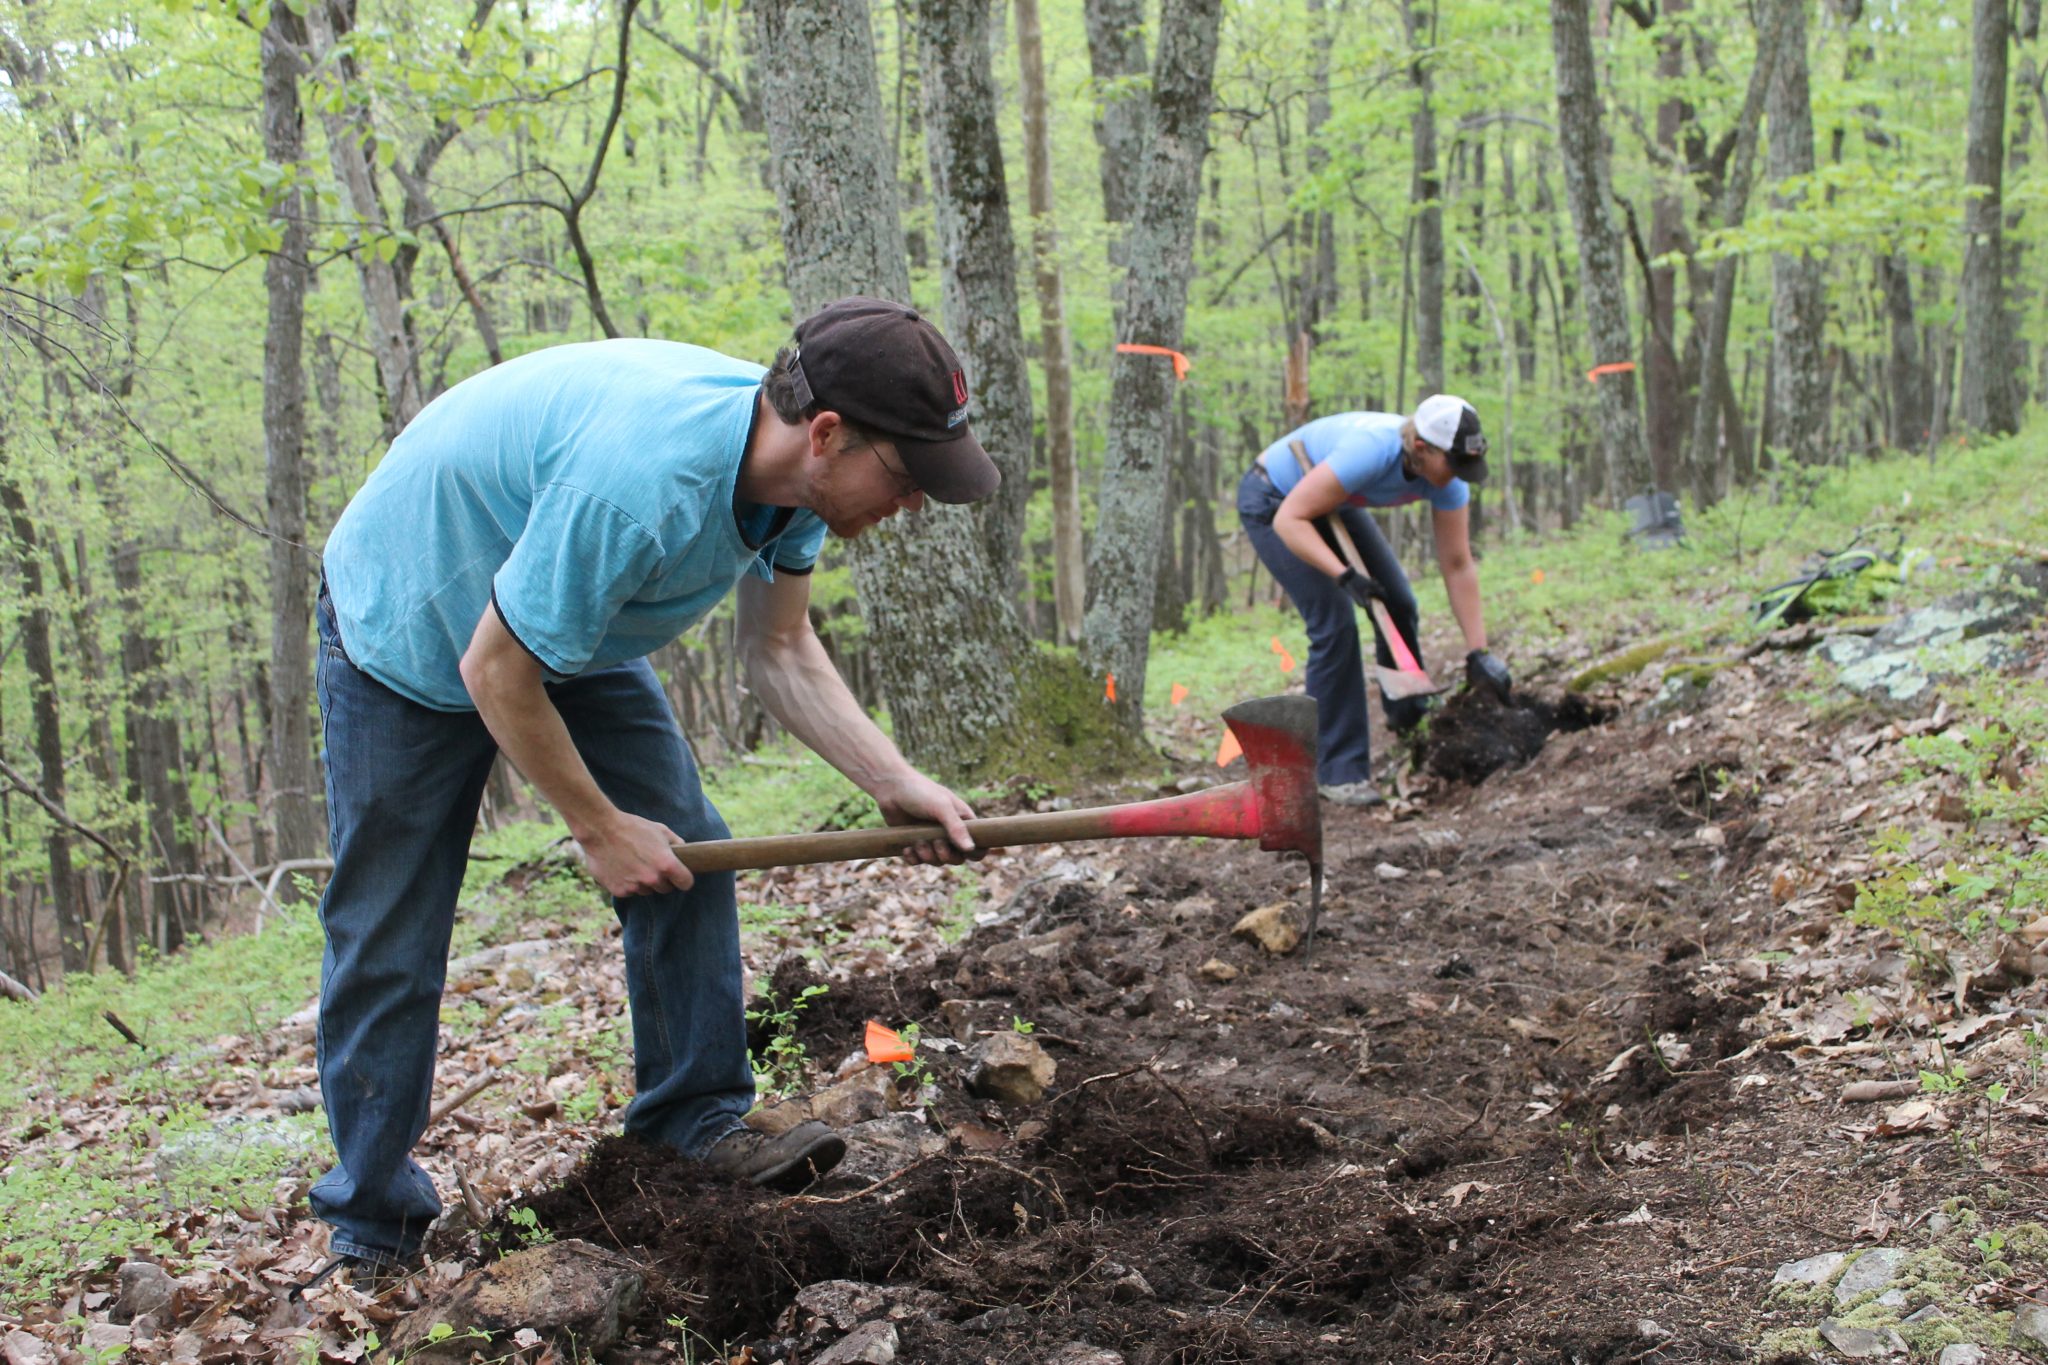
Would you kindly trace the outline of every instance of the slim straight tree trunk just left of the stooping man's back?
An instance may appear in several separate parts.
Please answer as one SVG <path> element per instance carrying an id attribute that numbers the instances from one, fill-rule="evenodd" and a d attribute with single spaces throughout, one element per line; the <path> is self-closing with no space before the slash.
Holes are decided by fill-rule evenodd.
<path id="1" fill-rule="evenodd" d="M 262 31 L 262 145 L 264 158 L 283 168 L 295 168 L 305 156 L 299 125 L 303 37 L 297 14 L 283 4 L 270 8 L 270 23 Z M 330 127 L 332 137 L 336 129 Z M 346 139 L 348 129 L 340 129 L 340 137 Z M 264 262 L 264 287 L 270 295 L 262 375 L 264 524 L 270 532 L 270 819 L 279 857 L 313 857 L 326 843 L 326 831 L 313 798 L 313 655 L 307 643 L 311 567 L 305 555 L 301 354 L 311 233 L 297 178 L 287 184 L 291 188 L 270 211 L 279 225 L 279 248 Z M 385 274 L 389 278 L 389 270 Z"/>

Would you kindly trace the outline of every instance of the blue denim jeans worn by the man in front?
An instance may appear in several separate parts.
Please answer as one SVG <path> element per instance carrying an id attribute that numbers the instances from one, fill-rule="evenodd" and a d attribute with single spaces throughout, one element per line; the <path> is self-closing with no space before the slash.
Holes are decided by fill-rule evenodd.
<path id="1" fill-rule="evenodd" d="M 410 1257 L 440 1197 L 412 1146 L 426 1130 L 455 900 L 498 745 L 350 663 L 319 593 L 319 714 L 334 878 L 319 902 L 319 1091 L 340 1164 L 311 1191 L 334 1254 Z M 690 747 L 645 659 L 549 696 L 604 794 L 684 839 L 723 839 Z M 633 1015 L 627 1132 L 692 1156 L 754 1105 L 733 876 L 612 900 Z"/>

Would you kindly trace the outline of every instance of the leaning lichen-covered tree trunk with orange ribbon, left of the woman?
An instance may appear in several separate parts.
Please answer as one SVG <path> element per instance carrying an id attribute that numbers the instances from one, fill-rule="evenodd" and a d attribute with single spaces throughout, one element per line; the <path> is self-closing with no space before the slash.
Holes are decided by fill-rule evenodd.
<path id="1" fill-rule="evenodd" d="M 1120 344 L 1178 350 L 1182 342 L 1221 12 L 1221 0 L 1165 0 L 1159 16 L 1151 141 L 1130 221 Z M 1143 733 L 1145 720 L 1145 653 L 1167 495 L 1174 383 L 1174 366 L 1161 356 L 1118 352 L 1110 366 L 1108 446 L 1087 561 L 1081 661 L 1096 677 L 1116 675 L 1116 720 L 1130 735 Z"/>

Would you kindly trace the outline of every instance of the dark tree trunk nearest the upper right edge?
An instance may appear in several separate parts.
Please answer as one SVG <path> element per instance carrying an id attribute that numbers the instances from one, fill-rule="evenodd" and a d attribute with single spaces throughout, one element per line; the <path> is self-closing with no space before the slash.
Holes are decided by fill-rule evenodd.
<path id="1" fill-rule="evenodd" d="M 1978 432 L 2019 430 L 2019 383 L 2005 321 L 2005 47 L 2007 0 L 1976 0 L 1970 123 L 1964 151 L 1962 379 L 1958 415 Z"/>

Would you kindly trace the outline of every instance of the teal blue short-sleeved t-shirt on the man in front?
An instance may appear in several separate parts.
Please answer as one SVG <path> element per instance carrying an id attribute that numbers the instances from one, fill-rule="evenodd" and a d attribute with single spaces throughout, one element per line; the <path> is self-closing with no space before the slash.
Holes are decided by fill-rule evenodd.
<path id="1" fill-rule="evenodd" d="M 668 645 L 748 573 L 807 571 L 815 514 L 733 501 L 760 379 L 700 346 L 614 340 L 442 393 L 328 536 L 348 657 L 414 702 L 473 710 L 459 663 L 492 600 L 559 681 Z"/>

